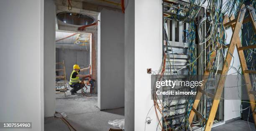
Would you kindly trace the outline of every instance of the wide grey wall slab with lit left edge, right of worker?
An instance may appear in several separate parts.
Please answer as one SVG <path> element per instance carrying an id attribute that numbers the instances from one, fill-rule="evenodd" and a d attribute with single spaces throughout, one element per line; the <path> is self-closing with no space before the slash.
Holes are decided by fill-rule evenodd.
<path id="1" fill-rule="evenodd" d="M 124 107 L 124 14 L 102 9 L 99 17 L 98 107 Z"/>

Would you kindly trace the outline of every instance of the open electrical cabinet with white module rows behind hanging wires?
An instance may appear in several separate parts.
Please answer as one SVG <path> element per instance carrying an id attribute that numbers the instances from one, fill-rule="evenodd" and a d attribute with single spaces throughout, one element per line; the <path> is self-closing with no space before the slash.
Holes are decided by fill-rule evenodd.
<path id="1" fill-rule="evenodd" d="M 189 18 L 183 21 L 176 20 L 176 17 L 184 17 L 189 4 L 181 0 L 164 0 L 163 2 L 163 30 L 164 30 L 164 52 L 166 54 L 166 65 L 164 75 L 187 76 L 189 75 Z M 205 10 L 202 8 L 198 13 L 198 19 L 204 17 Z M 165 17 L 168 15 L 168 17 Z M 205 36 L 205 28 L 202 28 L 202 37 Z M 197 34 L 197 33 L 195 33 Z M 198 41 L 195 39 L 195 43 Z M 200 46 L 199 46 L 200 47 Z M 196 47 L 198 48 L 198 47 Z M 199 50 L 200 51 L 200 50 Z M 201 59 L 200 59 L 201 60 Z M 202 65 L 204 71 L 204 65 Z M 184 77 L 183 81 L 187 78 Z M 185 91 L 187 87 L 175 87 L 179 91 Z M 163 90 L 168 90 L 163 88 Z M 163 98 L 163 130 L 178 129 L 184 123 L 184 113 L 186 109 L 186 98 L 184 96 L 174 96 Z"/>

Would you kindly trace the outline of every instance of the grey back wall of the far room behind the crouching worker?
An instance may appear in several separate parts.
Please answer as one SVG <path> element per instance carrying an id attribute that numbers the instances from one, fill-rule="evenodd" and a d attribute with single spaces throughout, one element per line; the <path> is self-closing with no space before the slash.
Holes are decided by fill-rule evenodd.
<path id="1" fill-rule="evenodd" d="M 56 48 L 56 61 L 62 62 L 64 60 L 67 74 L 67 81 L 69 81 L 70 74 L 73 71 L 73 65 L 78 64 L 80 68 L 87 68 L 90 65 L 90 50 L 71 50 L 71 49 L 61 49 Z M 56 66 L 56 69 L 63 68 L 62 66 Z M 81 72 L 80 74 L 88 74 L 89 70 L 86 72 Z M 59 75 L 62 73 L 59 72 Z"/>

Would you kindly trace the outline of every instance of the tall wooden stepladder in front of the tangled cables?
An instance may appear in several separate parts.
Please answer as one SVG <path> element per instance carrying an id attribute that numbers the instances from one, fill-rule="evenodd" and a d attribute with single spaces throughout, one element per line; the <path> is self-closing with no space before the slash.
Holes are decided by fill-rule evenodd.
<path id="1" fill-rule="evenodd" d="M 246 10 L 248 10 L 249 12 L 249 16 L 247 18 L 244 19 Z M 239 38 L 239 32 L 241 30 L 241 26 L 243 23 L 247 23 L 251 21 L 252 25 L 253 25 L 253 29 L 256 32 L 256 15 L 255 15 L 255 10 L 253 9 L 253 7 L 250 6 L 245 6 L 244 4 L 241 6 L 241 10 L 238 14 L 238 17 L 235 19 L 234 16 L 232 15 L 230 18 L 228 18 L 228 16 L 226 15 L 224 20 L 223 20 L 223 25 L 224 27 L 229 27 L 231 26 L 232 30 L 233 30 L 233 34 L 232 34 L 232 38 L 230 40 L 230 45 L 228 47 L 228 53 L 226 55 L 225 61 L 223 63 L 223 70 L 221 71 L 217 71 L 220 74 L 220 80 L 218 81 L 218 86 L 217 86 L 217 90 L 214 94 L 211 93 L 207 93 L 206 91 L 204 91 L 205 88 L 205 84 L 207 83 L 207 75 L 209 75 L 209 69 L 212 67 L 212 63 L 215 59 L 216 56 L 216 50 L 210 55 L 210 60 L 209 63 L 207 63 L 206 65 L 206 70 L 204 72 L 204 77 L 203 77 L 203 85 L 201 87 L 198 87 L 198 91 L 197 91 L 197 95 L 192 107 L 192 110 L 189 114 L 189 123 L 191 124 L 193 121 L 193 118 L 195 116 L 195 114 L 200 117 L 202 119 L 202 121 L 205 122 L 205 131 L 210 131 L 212 128 L 212 124 L 215 118 L 215 114 L 217 112 L 218 109 L 218 105 L 220 102 L 220 97 L 221 94 L 223 92 L 223 87 L 224 87 L 224 83 L 225 83 L 225 79 L 226 79 L 226 74 L 228 73 L 228 68 L 230 67 L 230 63 L 232 60 L 232 55 L 234 53 L 235 50 L 235 46 L 238 49 L 238 55 L 239 55 L 239 59 L 240 59 L 240 63 L 241 63 L 241 68 L 243 71 L 243 75 L 244 75 L 244 79 L 246 84 L 246 89 L 247 89 L 247 93 L 248 93 L 248 97 L 250 100 L 250 104 L 251 104 L 251 111 L 253 114 L 253 120 L 254 120 L 254 124 L 256 127 L 256 114 L 254 112 L 255 109 L 255 98 L 254 96 L 256 95 L 256 93 L 254 91 L 251 91 L 252 89 L 252 85 L 251 85 L 251 80 L 249 77 L 249 73 L 256 73 L 256 71 L 251 71 L 248 70 L 247 65 L 246 65 L 246 59 L 244 57 L 244 53 L 243 50 L 247 50 L 247 49 L 253 49 L 256 48 L 256 45 L 249 45 L 246 47 L 242 47 L 241 45 L 241 40 Z M 223 34 L 222 34 L 223 35 Z M 220 44 L 219 44 L 220 45 Z M 220 45 L 222 46 L 222 45 Z M 197 111 L 197 106 L 200 102 L 200 98 L 202 96 L 202 94 L 206 95 L 207 97 L 211 97 L 213 99 L 212 102 L 212 108 L 210 109 L 210 113 L 209 116 L 207 118 L 205 118 L 202 114 L 200 114 L 199 111 Z"/>

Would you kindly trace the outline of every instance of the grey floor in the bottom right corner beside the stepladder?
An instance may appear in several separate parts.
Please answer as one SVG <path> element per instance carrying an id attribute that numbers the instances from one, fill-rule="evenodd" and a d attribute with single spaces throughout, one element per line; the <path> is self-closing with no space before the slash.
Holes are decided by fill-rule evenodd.
<path id="1" fill-rule="evenodd" d="M 254 123 L 249 122 L 251 130 L 248 126 L 248 122 L 244 120 L 235 120 L 230 123 L 225 123 L 221 126 L 212 128 L 212 131 L 256 131 Z"/>

